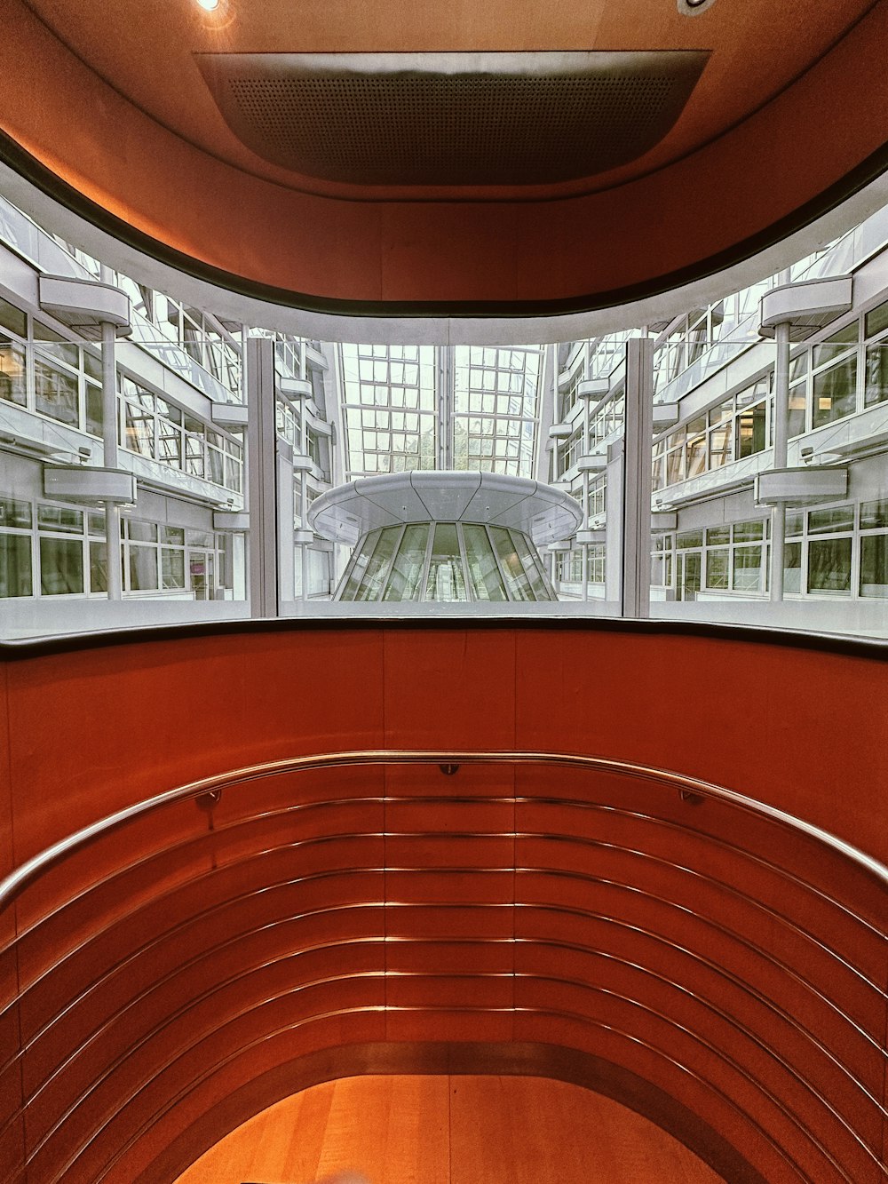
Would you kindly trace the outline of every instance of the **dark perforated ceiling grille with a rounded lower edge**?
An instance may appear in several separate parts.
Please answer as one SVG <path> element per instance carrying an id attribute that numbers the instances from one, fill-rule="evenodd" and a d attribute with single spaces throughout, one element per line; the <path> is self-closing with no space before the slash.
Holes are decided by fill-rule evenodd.
<path id="1" fill-rule="evenodd" d="M 552 69 L 559 54 L 485 56 L 497 72 L 488 62 L 463 72 L 459 54 L 408 56 L 430 58 L 422 70 L 405 70 L 403 54 L 373 56 L 361 70 L 363 57 L 330 56 L 321 69 L 311 54 L 199 60 L 232 130 L 277 165 L 363 184 L 522 185 L 587 176 L 646 152 L 675 123 L 707 54 L 566 54 L 583 59 L 570 71 Z M 516 63 L 525 69 L 502 69 Z"/>

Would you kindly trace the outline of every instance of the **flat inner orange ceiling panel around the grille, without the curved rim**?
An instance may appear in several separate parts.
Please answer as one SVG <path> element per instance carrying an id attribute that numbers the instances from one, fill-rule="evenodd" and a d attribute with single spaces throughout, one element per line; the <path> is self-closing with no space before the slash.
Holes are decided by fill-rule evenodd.
<path id="1" fill-rule="evenodd" d="M 189 143 L 289 187 L 356 195 L 362 191 L 354 186 L 294 175 L 245 148 L 219 115 L 193 54 L 710 51 L 667 139 L 591 186 L 554 187 L 571 192 L 620 184 L 721 135 L 804 73 L 873 0 L 718 0 L 693 18 L 678 12 L 676 0 L 227 0 L 227 11 L 218 15 L 194 0 L 28 0 L 27 6 L 101 78 Z"/>

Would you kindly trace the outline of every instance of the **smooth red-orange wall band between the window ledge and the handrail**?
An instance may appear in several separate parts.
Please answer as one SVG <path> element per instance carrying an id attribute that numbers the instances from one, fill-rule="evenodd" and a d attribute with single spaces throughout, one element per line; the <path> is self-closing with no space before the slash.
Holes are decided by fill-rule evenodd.
<path id="1" fill-rule="evenodd" d="M 667 630 L 380 626 L 160 639 L 5 669 L 18 862 L 199 777 L 374 747 L 635 760 L 770 802 L 888 862 L 873 826 L 882 661 Z"/>

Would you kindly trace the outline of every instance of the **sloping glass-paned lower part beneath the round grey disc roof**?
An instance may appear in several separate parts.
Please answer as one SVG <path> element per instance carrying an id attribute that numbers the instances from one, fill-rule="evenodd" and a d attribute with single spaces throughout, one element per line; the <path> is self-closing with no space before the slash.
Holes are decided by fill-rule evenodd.
<path id="1" fill-rule="evenodd" d="M 520 530 L 481 522 L 412 522 L 368 530 L 336 600 L 558 600 Z"/>

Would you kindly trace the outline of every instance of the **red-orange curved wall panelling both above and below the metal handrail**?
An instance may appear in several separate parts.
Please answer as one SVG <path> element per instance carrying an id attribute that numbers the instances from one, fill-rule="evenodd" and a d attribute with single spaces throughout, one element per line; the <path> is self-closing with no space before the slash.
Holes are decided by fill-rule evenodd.
<path id="1" fill-rule="evenodd" d="M 681 700 L 663 691 L 664 663 L 694 673 Z M 729 780 L 884 854 L 884 665 L 866 658 L 604 630 L 391 629 L 127 644 L 5 670 L 28 854 L 201 772 L 457 740 Z M 854 736 L 826 727 L 836 687 Z M 773 722 L 792 695 L 815 704 L 816 731 Z M 761 736 L 779 736 L 779 761 Z M 192 1132 L 202 1150 L 201 1114 L 305 1057 L 517 1041 L 603 1057 L 683 1100 L 768 1179 L 830 1179 L 835 1160 L 870 1184 L 886 946 L 821 895 L 834 890 L 883 915 L 866 875 L 807 839 L 610 772 L 343 768 L 226 790 L 212 815 L 186 802 L 22 899 L 31 928 L 14 958 L 0 951 L 22 991 L 20 1010 L 0 1011 L 2 1138 L 20 1146 L 27 1096 L 27 1184 L 92 1184 L 105 1163 L 114 1184 L 150 1179 L 162 1140 Z M 257 1093 L 255 1108 L 269 1100 Z"/>

